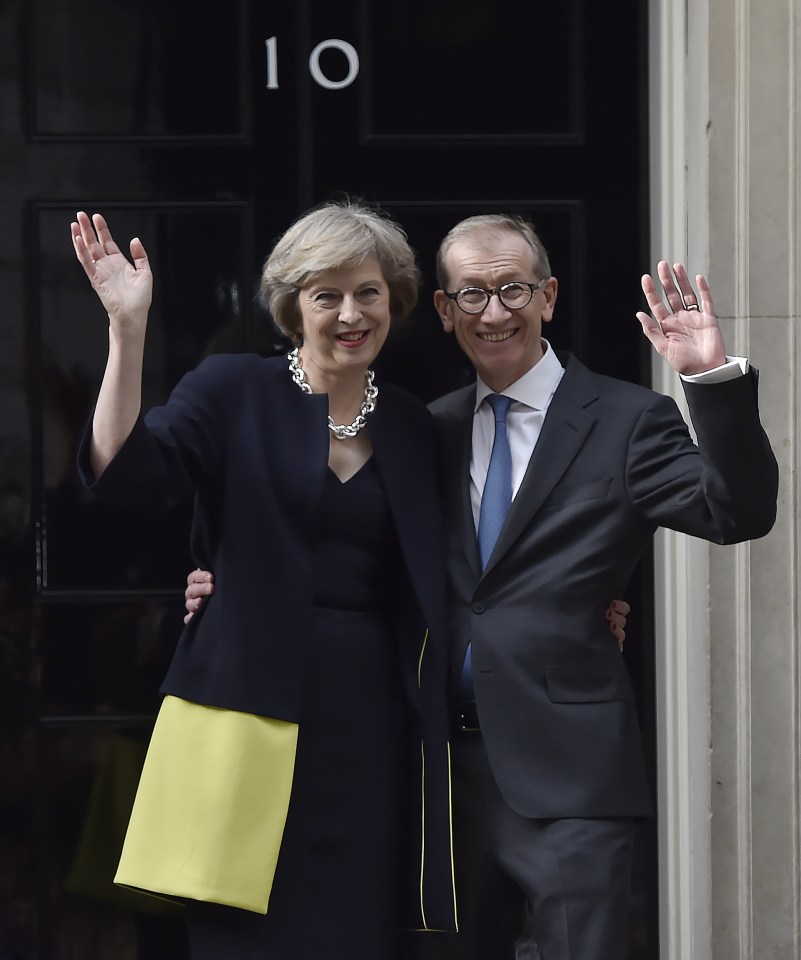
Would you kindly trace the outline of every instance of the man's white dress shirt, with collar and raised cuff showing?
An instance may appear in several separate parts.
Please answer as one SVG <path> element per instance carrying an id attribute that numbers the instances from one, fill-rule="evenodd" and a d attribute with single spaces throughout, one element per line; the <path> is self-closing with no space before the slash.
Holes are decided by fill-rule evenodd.
<path id="1" fill-rule="evenodd" d="M 506 417 L 506 433 L 512 454 L 512 499 L 517 496 L 528 462 L 539 440 L 542 424 L 556 388 L 564 376 L 564 367 L 547 340 L 542 341 L 542 358 L 523 376 L 510 384 L 503 394 L 512 398 Z M 683 376 L 690 383 L 720 383 L 742 376 L 748 370 L 744 357 L 727 357 L 726 363 L 704 373 Z M 478 530 L 481 496 L 489 470 L 495 439 L 495 415 L 484 400 L 493 391 L 479 377 L 476 381 L 476 405 L 473 413 L 473 448 L 470 456 L 470 502 Z"/>

